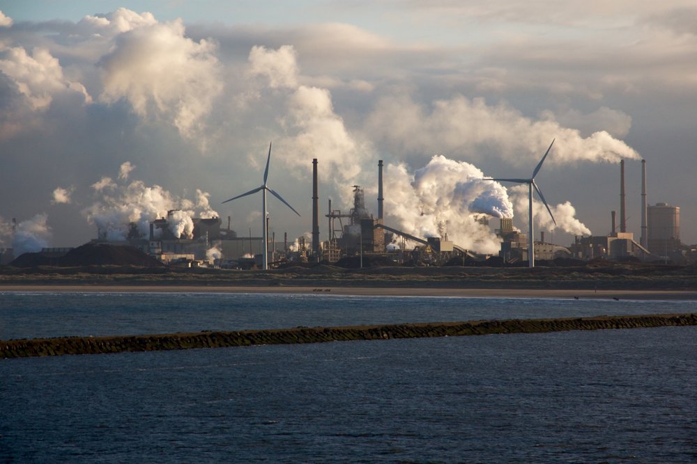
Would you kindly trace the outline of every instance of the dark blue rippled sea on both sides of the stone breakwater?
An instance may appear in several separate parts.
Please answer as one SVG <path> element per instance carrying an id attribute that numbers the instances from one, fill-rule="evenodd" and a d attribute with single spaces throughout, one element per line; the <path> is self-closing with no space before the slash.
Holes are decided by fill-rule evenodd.
<path id="1" fill-rule="evenodd" d="M 0 294 L 0 338 L 695 312 L 689 301 Z M 0 462 L 697 461 L 697 328 L 0 360 Z"/>

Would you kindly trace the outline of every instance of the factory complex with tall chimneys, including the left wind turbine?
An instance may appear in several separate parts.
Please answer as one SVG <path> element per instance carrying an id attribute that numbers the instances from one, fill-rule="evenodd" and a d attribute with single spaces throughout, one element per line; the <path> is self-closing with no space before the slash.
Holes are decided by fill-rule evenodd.
<path id="1" fill-rule="evenodd" d="M 266 175 L 268 175 L 269 159 L 270 147 L 264 184 L 254 191 L 235 198 L 268 189 Z M 482 255 L 477 253 L 477 250 L 466 250 L 457 243 L 453 243 L 448 240 L 447 234 L 443 237 L 416 237 L 410 232 L 385 223 L 383 161 L 380 160 L 378 161 L 376 216 L 366 205 L 364 189 L 359 185 L 347 186 L 347 189 L 351 188 L 353 192 L 353 205 L 346 209 L 338 209 L 336 205 L 332 205 L 332 200 L 328 200 L 327 213 L 323 215 L 326 218 L 327 239 L 320 241 L 318 160 L 314 159 L 312 161 L 312 233 L 308 237 L 296 237 L 289 241 L 285 233 L 283 237 L 276 237 L 275 232 L 270 232 L 271 216 L 266 211 L 266 190 L 264 190 L 263 212 L 265 214 L 261 237 L 258 233 L 254 234 L 251 229 L 248 233 L 233 230 L 230 216 L 227 217 L 225 224 L 219 217 L 192 218 L 192 227 L 175 233 L 171 225 L 180 211 L 171 210 L 167 212 L 167 216 L 152 218 L 149 230 L 145 234 L 132 224 L 125 240 L 114 241 L 107 238 L 107 230 L 98 229 L 97 237 L 91 243 L 132 246 L 168 265 L 216 266 L 229 269 L 266 269 L 266 266 L 273 268 L 287 264 L 319 262 L 339 263 L 349 267 L 371 264 L 524 266 L 528 264 L 530 243 L 534 243 L 534 259 L 539 265 L 555 259 L 567 261 L 569 259 L 574 261 L 606 259 L 673 264 L 696 262 L 695 247 L 686 246 L 680 241 L 680 207 L 667 205 L 664 202 L 648 204 L 646 162 L 641 163 L 639 237 L 627 231 L 624 161 L 620 163 L 618 205 L 620 214 L 618 218 L 615 210 L 608 211 L 611 218 L 608 234 L 575 237 L 569 246 L 561 246 L 545 241 L 544 231 L 539 232 L 539 237 L 529 237 L 529 234 L 513 226 L 512 218 L 501 218 L 500 227 L 495 230 L 500 239 L 498 255 Z M 268 190 L 286 203 L 277 193 Z M 290 207 L 288 203 L 286 205 Z M 41 253 L 56 256 L 68 253 L 69 250 L 70 248 L 45 248 Z M 9 264 L 13 259 L 11 248 L 0 250 L 1 264 Z"/>

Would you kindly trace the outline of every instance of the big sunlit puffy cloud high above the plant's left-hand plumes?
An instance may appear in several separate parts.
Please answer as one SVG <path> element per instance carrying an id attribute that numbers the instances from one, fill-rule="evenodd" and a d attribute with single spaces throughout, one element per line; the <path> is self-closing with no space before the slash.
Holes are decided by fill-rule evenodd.
<path id="1" fill-rule="evenodd" d="M 100 63 L 100 99 L 125 98 L 142 117 L 162 118 L 183 136 L 194 136 L 223 87 L 215 43 L 187 38 L 181 20 L 129 24 L 119 26 L 125 32 Z"/>

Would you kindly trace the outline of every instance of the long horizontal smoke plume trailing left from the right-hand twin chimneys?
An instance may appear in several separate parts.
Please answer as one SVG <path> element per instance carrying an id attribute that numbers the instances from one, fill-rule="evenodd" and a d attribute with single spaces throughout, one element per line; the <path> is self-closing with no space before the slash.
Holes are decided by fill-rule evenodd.
<path id="1" fill-rule="evenodd" d="M 365 121 L 365 131 L 393 150 L 415 154 L 429 152 L 438 141 L 443 151 L 475 156 L 487 151 L 529 164 L 537 163 L 556 138 L 554 156 L 547 163 L 641 159 L 634 149 L 607 131 L 584 138 L 580 131 L 562 127 L 551 113 L 544 115 L 545 119 L 533 120 L 506 104 L 490 106 L 482 98 L 462 95 L 433 102 L 430 112 L 409 97 L 385 97 Z"/>

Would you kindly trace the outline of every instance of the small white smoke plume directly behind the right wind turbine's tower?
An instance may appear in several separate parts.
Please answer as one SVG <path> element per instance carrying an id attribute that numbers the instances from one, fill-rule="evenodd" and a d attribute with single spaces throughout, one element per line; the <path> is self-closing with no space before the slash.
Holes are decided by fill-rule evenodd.
<path id="1" fill-rule="evenodd" d="M 508 192 L 513 199 L 516 214 L 527 224 L 530 208 L 528 204 L 528 186 L 516 185 L 511 187 Z M 551 209 L 554 215 L 554 219 L 557 222 L 556 225 L 552 222 L 552 218 L 549 217 L 549 211 L 544 207 L 544 203 L 537 200 L 535 194 L 533 194 L 533 221 L 535 221 L 536 230 L 549 230 L 551 232 L 558 228 L 574 235 L 591 234 L 590 229 L 574 217 L 576 216 L 576 208 L 572 206 L 571 202 L 566 201 L 557 205 L 551 204 L 549 209 Z"/>

